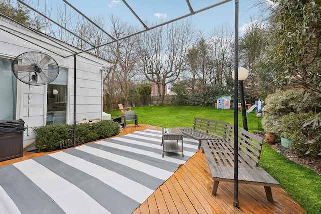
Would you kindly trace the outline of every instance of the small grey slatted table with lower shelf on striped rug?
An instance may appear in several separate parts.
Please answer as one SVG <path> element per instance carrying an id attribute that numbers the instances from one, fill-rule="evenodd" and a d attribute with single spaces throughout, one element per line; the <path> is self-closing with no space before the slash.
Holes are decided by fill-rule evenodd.
<path id="1" fill-rule="evenodd" d="M 181 140 L 181 147 L 178 144 L 178 141 Z M 162 157 L 164 157 L 164 152 L 182 152 L 183 154 L 183 134 L 178 128 L 162 128 L 162 143 L 163 152 Z"/>

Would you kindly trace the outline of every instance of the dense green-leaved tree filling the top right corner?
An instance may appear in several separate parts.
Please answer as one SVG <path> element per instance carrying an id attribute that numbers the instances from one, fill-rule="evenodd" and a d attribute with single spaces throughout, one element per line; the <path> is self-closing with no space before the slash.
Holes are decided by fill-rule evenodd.
<path id="1" fill-rule="evenodd" d="M 278 23 L 273 35 L 271 62 L 281 65 L 277 73 L 280 87 L 291 84 L 321 93 L 321 2 L 278 0 L 271 20 Z"/>

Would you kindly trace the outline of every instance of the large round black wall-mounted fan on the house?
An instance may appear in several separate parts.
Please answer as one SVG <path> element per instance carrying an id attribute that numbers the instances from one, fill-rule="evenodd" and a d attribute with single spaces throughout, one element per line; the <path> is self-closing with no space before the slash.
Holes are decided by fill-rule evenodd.
<path id="1" fill-rule="evenodd" d="M 21 64 L 17 65 L 20 60 Z M 11 69 L 21 82 L 35 86 L 51 83 L 59 74 L 59 66 L 54 58 L 36 51 L 17 56 Z"/>

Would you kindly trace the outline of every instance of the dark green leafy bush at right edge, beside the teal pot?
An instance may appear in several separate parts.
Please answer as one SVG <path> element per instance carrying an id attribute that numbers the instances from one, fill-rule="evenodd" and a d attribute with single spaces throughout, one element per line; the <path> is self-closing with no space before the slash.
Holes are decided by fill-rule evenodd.
<path id="1" fill-rule="evenodd" d="M 282 126 L 284 136 L 290 140 L 290 148 L 299 156 L 308 156 L 311 158 L 321 157 L 321 129 L 319 125 L 313 127 L 309 123 L 315 116 L 314 113 L 294 112 L 283 116 Z"/>

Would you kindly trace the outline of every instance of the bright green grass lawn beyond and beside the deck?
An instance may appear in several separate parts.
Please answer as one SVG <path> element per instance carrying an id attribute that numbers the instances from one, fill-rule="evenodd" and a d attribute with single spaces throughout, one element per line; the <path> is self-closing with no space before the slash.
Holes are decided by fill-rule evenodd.
<path id="1" fill-rule="evenodd" d="M 213 107 L 196 106 L 143 106 L 133 107 L 138 115 L 139 124 L 149 124 L 160 127 L 192 127 L 194 117 L 219 120 L 234 124 L 233 110 L 217 110 Z M 107 112 L 112 117 L 120 114 L 119 110 Z M 242 115 L 239 116 L 239 126 L 243 127 Z M 262 129 L 261 118 L 255 111 L 247 114 L 248 130 Z M 308 213 L 321 213 L 321 176 L 314 171 L 297 165 L 270 146 L 264 144 L 260 165 L 272 175 L 282 188 L 304 208 Z M 273 191 L 273 190 L 272 190 Z"/>

